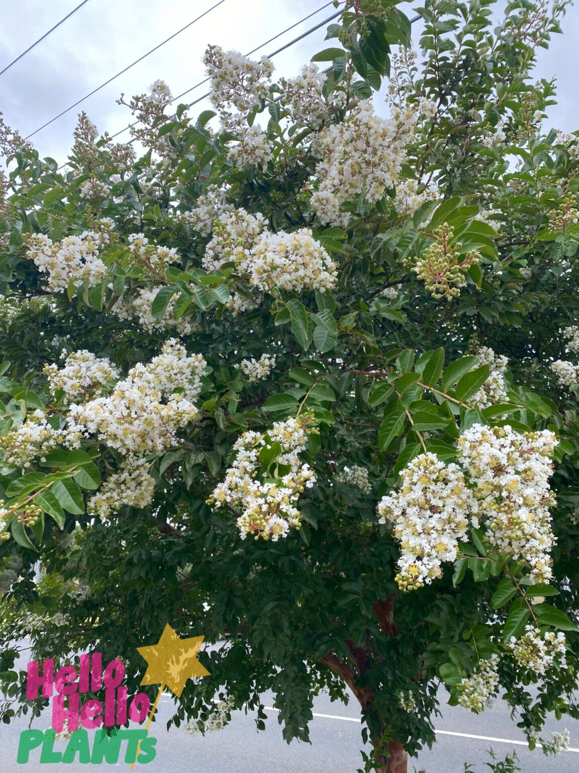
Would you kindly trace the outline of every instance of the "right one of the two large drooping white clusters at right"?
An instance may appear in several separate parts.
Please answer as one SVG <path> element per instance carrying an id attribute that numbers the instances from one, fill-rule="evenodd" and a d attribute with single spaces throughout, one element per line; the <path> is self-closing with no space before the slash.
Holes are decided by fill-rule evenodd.
<path id="1" fill-rule="evenodd" d="M 555 542 L 549 513 L 555 503 L 549 488 L 555 435 L 474 424 L 457 442 L 489 543 L 529 564 L 536 583 L 548 582 Z"/>

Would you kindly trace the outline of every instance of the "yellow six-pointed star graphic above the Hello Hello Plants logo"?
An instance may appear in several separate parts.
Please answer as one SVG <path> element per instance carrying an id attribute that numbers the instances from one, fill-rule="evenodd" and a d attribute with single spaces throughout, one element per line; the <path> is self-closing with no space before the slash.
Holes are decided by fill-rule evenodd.
<path id="1" fill-rule="evenodd" d="M 195 676 L 209 676 L 209 672 L 197 659 L 203 636 L 179 638 L 167 624 L 157 644 L 137 647 L 147 661 L 147 671 L 141 684 L 167 685 L 178 698 L 185 682 Z"/>

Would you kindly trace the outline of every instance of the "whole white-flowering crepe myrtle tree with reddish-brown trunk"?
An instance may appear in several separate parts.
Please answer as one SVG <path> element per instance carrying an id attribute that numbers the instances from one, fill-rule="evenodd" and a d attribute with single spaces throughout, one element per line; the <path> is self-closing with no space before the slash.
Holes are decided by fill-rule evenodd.
<path id="1" fill-rule="evenodd" d="M 341 5 L 296 77 L 209 46 L 214 110 L 121 97 L 137 145 L 81 114 L 63 169 L 2 124 L 5 721 L 46 703 L 22 635 L 131 689 L 166 622 L 227 638 L 173 724 L 272 690 L 306 741 L 353 693 L 365 771 L 441 683 L 546 753 L 579 717 L 579 140 L 532 72 L 565 4 L 428 0 L 419 53 Z"/>

